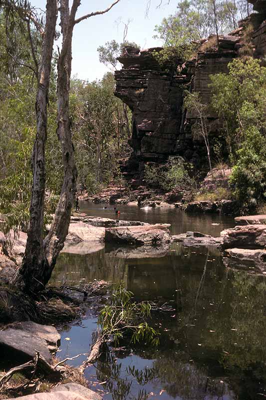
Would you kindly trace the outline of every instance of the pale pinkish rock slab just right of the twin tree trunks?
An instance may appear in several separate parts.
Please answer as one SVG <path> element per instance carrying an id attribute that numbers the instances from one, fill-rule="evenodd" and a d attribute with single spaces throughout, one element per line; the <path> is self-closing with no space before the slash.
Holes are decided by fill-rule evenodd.
<path id="1" fill-rule="evenodd" d="M 80 241 L 103 241 L 105 228 L 89 225 L 84 222 L 70 223 L 66 243 L 78 243 Z"/>

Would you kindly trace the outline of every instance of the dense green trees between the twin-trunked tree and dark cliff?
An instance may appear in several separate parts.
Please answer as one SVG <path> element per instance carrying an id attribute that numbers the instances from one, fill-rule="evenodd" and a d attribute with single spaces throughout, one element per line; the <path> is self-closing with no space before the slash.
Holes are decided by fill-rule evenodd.
<path id="1" fill-rule="evenodd" d="M 110 72 L 100 81 L 71 82 L 78 184 L 90 192 L 97 192 L 113 178 L 121 183 L 117 159 L 128 153 L 125 110 L 122 101 L 113 94 L 114 84 Z"/>

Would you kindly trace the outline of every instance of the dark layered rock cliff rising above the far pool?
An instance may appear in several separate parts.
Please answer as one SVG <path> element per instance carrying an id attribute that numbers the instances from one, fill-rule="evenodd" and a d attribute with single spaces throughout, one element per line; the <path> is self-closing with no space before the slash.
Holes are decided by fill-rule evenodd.
<path id="1" fill-rule="evenodd" d="M 198 170 L 207 165 L 207 152 L 201 137 L 192 131 L 196 120 L 183 107 L 184 91 L 198 91 L 206 104 L 210 103 L 210 75 L 228 71 L 228 63 L 239 56 L 243 46 L 243 32 L 252 23 L 256 56 L 266 54 L 266 0 L 252 0 L 258 13 L 241 21 L 239 28 L 227 36 L 220 36 L 219 51 L 212 46 L 212 37 L 206 39 L 204 51 L 193 59 L 179 64 L 174 71 L 162 70 L 150 48 L 138 51 L 127 48 L 118 60 L 122 69 L 115 72 L 115 95 L 132 110 L 133 152 L 121 161 L 124 176 L 132 186 L 143 183 L 147 162 L 162 163 L 170 155 L 181 155 Z M 221 136 L 222 121 L 209 108 L 210 139 Z"/>

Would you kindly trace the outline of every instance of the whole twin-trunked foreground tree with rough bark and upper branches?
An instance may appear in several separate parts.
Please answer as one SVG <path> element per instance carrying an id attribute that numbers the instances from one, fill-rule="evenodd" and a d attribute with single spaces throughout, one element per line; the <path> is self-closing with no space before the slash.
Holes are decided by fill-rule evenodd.
<path id="1" fill-rule="evenodd" d="M 47 0 L 45 23 L 30 3 L 22 0 L 1 0 L 0 6 L 5 13 L 6 28 L 13 28 L 18 22 L 19 28 L 27 27 L 33 66 L 31 69 L 37 79 L 36 137 L 33 145 L 31 166 L 33 183 L 31 188 L 30 219 L 28 237 L 22 265 L 12 279 L 12 283 L 27 292 L 41 290 L 48 282 L 56 258 L 63 248 L 68 232 L 71 207 L 76 191 L 77 171 L 72 144 L 69 119 L 69 83 L 72 60 L 72 34 L 74 26 L 84 19 L 108 12 L 120 0 L 109 7 L 76 17 L 80 0 Z M 55 37 L 57 12 L 60 13 L 62 46 L 57 60 L 57 135 L 61 143 L 64 178 L 60 198 L 47 236 L 43 237 L 43 215 L 45 194 L 45 145 L 47 139 L 47 104 L 50 82 L 52 50 Z M 30 26 L 41 38 L 40 60 L 36 58 Z M 12 34 L 12 32 L 10 32 Z M 10 34 L 10 37 L 11 37 Z"/>

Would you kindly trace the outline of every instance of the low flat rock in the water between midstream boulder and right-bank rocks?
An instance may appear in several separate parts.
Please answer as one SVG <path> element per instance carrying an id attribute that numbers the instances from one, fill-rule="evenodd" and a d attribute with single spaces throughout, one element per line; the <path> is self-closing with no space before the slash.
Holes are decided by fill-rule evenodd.
<path id="1" fill-rule="evenodd" d="M 219 246 L 221 243 L 223 243 L 223 237 L 213 237 L 209 234 L 191 231 L 173 235 L 172 238 L 175 242 L 182 243 L 186 246 Z"/>

